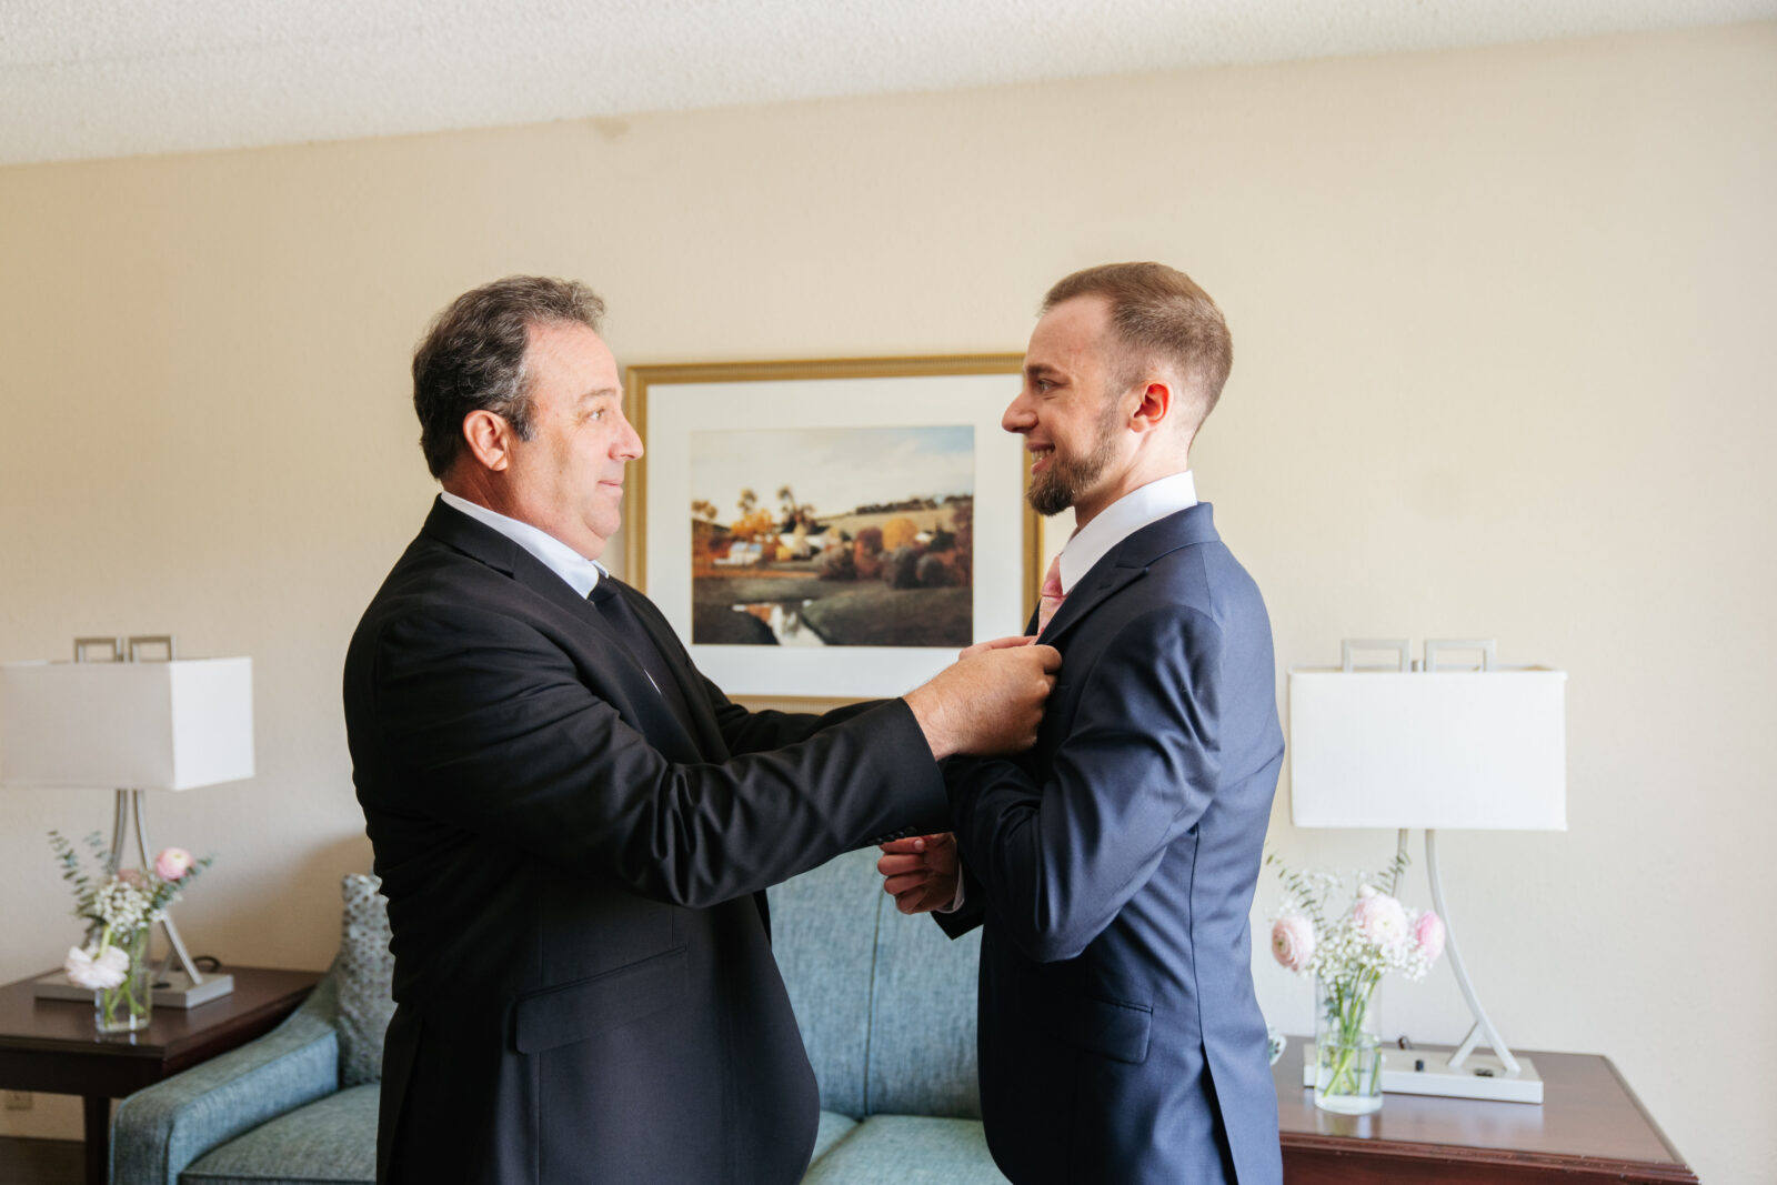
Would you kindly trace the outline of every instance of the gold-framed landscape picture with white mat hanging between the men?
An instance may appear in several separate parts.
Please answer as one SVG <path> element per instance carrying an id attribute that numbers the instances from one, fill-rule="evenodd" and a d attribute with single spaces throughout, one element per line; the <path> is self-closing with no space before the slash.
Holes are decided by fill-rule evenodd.
<path id="1" fill-rule="evenodd" d="M 631 366 L 627 576 L 723 691 L 901 695 L 1024 631 L 1016 354 Z"/>

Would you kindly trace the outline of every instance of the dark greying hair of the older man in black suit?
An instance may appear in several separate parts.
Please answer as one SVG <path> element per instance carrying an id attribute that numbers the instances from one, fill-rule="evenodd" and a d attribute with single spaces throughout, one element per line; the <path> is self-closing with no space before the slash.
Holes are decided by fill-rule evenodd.
<path id="1" fill-rule="evenodd" d="M 494 412 L 521 441 L 531 439 L 531 325 L 579 322 L 597 332 L 602 316 L 590 288 L 546 275 L 508 275 L 451 300 L 414 350 L 414 412 L 432 476 L 457 464 L 469 412 Z"/>

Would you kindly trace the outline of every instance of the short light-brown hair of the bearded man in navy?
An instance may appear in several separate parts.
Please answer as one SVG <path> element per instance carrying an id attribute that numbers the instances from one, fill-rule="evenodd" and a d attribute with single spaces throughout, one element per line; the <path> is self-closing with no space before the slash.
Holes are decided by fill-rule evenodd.
<path id="1" fill-rule="evenodd" d="M 1233 338 L 1210 295 L 1164 263 L 1104 263 L 1050 288 L 1043 313 L 1075 297 L 1111 302 L 1111 332 L 1125 350 L 1125 357 L 1112 361 L 1112 386 L 1127 389 L 1153 362 L 1176 368 L 1194 405 L 1191 432 L 1196 433 L 1215 410 L 1233 366 Z"/>

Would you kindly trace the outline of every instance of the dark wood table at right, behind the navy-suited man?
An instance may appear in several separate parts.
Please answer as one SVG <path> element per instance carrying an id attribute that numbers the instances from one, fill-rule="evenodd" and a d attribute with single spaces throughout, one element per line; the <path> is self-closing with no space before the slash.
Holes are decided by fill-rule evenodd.
<path id="1" fill-rule="evenodd" d="M 1335 1116 L 1303 1086 L 1303 1045 L 1290 1038 L 1271 1068 L 1285 1185 L 1697 1181 L 1608 1057 L 1516 1050 L 1542 1103 L 1384 1094 L 1374 1116 Z"/>

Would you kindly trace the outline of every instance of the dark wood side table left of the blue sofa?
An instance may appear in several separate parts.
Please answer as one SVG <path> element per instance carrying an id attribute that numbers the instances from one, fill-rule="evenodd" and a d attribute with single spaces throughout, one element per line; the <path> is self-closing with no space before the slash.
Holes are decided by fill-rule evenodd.
<path id="1" fill-rule="evenodd" d="M 224 968 L 235 991 L 192 1009 L 156 1007 L 147 1029 L 100 1036 L 92 1002 L 39 1000 L 44 974 L 0 988 L 0 1089 L 85 1100 L 87 1181 L 110 1171 L 110 1100 L 268 1032 L 297 1011 L 320 972 Z"/>

